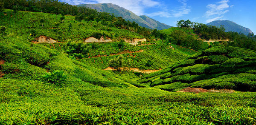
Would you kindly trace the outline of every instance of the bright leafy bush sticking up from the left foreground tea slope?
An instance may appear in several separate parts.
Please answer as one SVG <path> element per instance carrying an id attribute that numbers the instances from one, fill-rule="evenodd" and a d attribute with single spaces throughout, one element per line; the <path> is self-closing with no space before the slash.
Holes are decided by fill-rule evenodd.
<path id="1" fill-rule="evenodd" d="M 42 76 L 42 80 L 44 82 L 50 83 L 52 85 L 60 86 L 60 87 L 64 86 L 66 79 L 67 79 L 67 75 L 64 74 L 63 71 L 59 71 L 59 70 L 56 70 L 54 72 L 49 72 Z"/>

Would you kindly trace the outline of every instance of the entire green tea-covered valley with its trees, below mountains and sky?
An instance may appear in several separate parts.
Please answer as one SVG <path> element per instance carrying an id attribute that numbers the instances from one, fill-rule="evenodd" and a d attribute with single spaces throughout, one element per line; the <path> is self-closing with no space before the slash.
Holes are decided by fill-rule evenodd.
<path id="1" fill-rule="evenodd" d="M 0 125 L 256 124 L 255 36 L 58 0 L 1 6 Z"/>

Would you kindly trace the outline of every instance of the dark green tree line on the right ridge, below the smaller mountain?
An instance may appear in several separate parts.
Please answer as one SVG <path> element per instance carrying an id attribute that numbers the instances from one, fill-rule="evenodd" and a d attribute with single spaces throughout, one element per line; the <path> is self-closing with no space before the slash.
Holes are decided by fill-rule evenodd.
<path id="1" fill-rule="evenodd" d="M 219 45 L 230 45 L 240 48 L 247 48 L 256 50 L 256 36 L 254 34 L 248 34 L 247 36 L 237 32 L 225 32 L 224 26 L 216 27 L 209 26 L 202 23 L 191 22 L 190 20 L 177 21 L 177 27 L 192 28 L 195 34 L 204 40 L 223 40 Z M 200 40 L 196 40 L 191 35 L 186 35 L 182 32 L 174 32 L 171 35 L 175 44 L 192 48 L 195 50 L 203 50 L 206 47 Z M 229 41 L 224 41 L 229 40 Z M 211 46 L 209 46 L 211 47 Z"/>

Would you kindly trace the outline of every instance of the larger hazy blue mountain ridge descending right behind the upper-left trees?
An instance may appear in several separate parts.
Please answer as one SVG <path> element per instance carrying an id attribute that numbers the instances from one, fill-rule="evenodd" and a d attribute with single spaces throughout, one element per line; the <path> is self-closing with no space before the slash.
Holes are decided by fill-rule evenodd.
<path id="1" fill-rule="evenodd" d="M 131 22 L 134 21 L 138 23 L 140 26 L 143 26 L 146 28 L 151 28 L 151 29 L 157 28 L 158 30 L 162 30 L 162 29 L 167 29 L 172 27 L 164 23 L 160 23 L 159 21 L 149 18 L 147 16 L 137 16 L 132 11 L 129 11 L 127 9 L 124 9 L 112 3 L 81 4 L 77 6 L 85 6 L 91 9 L 96 9 L 97 11 L 100 11 L 100 12 L 113 13 L 116 16 L 123 17 L 125 20 L 129 20 Z"/>

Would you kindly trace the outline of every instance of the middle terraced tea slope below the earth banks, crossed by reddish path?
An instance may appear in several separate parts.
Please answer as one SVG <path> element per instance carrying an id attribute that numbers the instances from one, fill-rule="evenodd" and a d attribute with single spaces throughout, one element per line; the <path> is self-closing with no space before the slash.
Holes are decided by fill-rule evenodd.
<path id="1" fill-rule="evenodd" d="M 59 51 L 67 48 L 65 43 L 43 45 Z M 97 48 L 94 49 L 90 47 L 91 45 L 92 43 L 87 44 L 90 48 L 87 58 L 78 60 L 99 69 L 108 68 L 108 61 L 120 54 L 124 56 L 125 62 L 130 60 L 131 68 L 140 70 L 159 70 L 188 57 L 179 46 L 171 48 L 161 42 L 146 42 L 137 46 L 125 44 L 123 48 L 118 47 L 118 42 L 97 44 Z M 153 62 L 152 65 L 145 65 L 148 60 Z"/>

